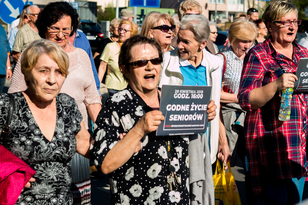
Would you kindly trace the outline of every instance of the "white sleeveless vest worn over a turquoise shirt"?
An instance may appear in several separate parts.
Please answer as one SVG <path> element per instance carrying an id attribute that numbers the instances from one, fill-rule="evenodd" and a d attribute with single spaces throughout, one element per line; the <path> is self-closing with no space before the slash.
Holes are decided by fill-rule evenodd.
<path id="1" fill-rule="evenodd" d="M 205 59 L 206 82 L 209 86 L 212 86 L 211 100 L 215 101 L 217 106 L 216 113 L 218 114 L 210 123 L 210 135 L 208 139 L 210 142 L 211 163 L 213 164 L 216 162 L 218 151 L 219 109 L 223 62 L 220 57 L 209 53 L 205 49 L 203 49 L 202 52 L 203 58 Z M 183 75 L 180 70 L 179 50 L 176 47 L 175 50 L 164 53 L 164 62 L 162 63 L 158 86 L 182 84 Z"/>

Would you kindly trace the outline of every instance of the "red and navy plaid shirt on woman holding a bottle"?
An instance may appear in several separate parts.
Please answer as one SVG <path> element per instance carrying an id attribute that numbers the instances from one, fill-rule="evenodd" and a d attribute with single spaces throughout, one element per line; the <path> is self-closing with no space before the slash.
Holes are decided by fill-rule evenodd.
<path id="1" fill-rule="evenodd" d="M 247 111 L 244 122 L 245 141 L 256 194 L 261 192 L 260 177 L 264 172 L 278 178 L 307 176 L 308 92 L 294 91 L 290 121 L 287 122 L 278 120 L 281 92 L 277 92 L 257 110 L 251 110 L 249 93 L 282 75 L 280 66 L 286 72 L 295 74 L 299 59 L 307 57 L 307 49 L 296 42 L 293 42 L 292 60 L 277 53 L 270 37 L 254 46 L 245 56 L 237 97 L 242 109 Z"/>

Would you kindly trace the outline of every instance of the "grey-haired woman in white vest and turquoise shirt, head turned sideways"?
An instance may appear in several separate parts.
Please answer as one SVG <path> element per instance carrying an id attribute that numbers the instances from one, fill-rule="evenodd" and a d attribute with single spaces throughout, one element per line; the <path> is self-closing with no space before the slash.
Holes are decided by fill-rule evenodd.
<path id="1" fill-rule="evenodd" d="M 209 20 L 205 16 L 197 14 L 183 16 L 177 34 L 178 47 L 164 53 L 159 86 L 212 86 L 211 98 L 219 105 L 223 62 L 218 56 L 205 50 L 209 33 Z M 209 108 L 213 108 L 211 106 L 209 104 Z M 216 115 L 216 112 L 219 113 L 219 106 L 214 107 Z M 219 119 L 217 117 L 212 120 L 205 133 L 198 137 L 190 136 L 188 153 L 191 202 L 214 203 L 214 191 L 209 184 L 213 182 L 211 164 L 216 162 L 217 151 L 218 158 L 225 164 L 230 156 L 224 126 Z M 221 132 L 219 132 L 220 124 Z"/>

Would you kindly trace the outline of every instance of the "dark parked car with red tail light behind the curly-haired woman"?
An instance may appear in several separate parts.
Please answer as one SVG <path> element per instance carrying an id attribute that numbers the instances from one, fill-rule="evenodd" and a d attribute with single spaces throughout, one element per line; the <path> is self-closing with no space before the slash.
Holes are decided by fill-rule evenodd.
<path id="1" fill-rule="evenodd" d="M 100 30 L 99 26 L 92 21 L 81 20 L 79 29 L 86 34 L 90 42 L 92 54 L 96 51 L 97 46 L 104 38 L 104 33 Z"/>

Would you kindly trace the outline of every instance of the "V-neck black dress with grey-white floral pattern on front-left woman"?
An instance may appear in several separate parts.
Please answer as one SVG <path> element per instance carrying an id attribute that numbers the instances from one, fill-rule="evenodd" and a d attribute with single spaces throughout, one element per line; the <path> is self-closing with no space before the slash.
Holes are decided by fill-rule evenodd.
<path id="1" fill-rule="evenodd" d="M 81 130 L 82 116 L 73 98 L 67 94 L 56 97 L 55 133 L 48 141 L 40 131 L 22 92 L 14 93 L 11 132 L 6 148 L 36 171 L 36 180 L 25 189 L 16 204 L 72 204 L 70 160 L 76 152 L 75 133 Z M 0 126 L 7 116 L 10 98 L 0 94 Z M 3 143 L 3 135 L 0 143 Z M 16 182 L 18 183 L 18 182 Z"/>

